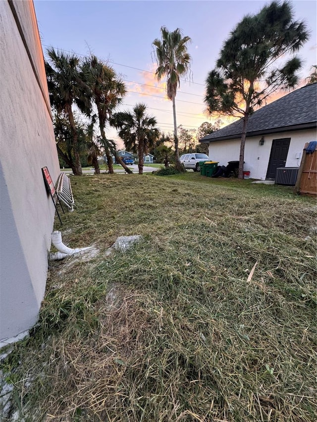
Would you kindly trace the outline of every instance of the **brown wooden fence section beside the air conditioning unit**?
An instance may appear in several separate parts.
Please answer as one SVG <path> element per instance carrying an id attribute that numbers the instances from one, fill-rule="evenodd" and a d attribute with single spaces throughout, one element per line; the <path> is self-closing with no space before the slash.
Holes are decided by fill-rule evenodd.
<path id="1" fill-rule="evenodd" d="M 317 195 L 317 150 L 312 154 L 306 153 L 308 142 L 303 150 L 301 166 L 295 185 L 295 192 L 307 195 Z"/>

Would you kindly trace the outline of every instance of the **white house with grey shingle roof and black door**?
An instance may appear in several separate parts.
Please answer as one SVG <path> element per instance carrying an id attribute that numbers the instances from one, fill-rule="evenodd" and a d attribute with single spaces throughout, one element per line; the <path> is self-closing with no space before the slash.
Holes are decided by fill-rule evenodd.
<path id="1" fill-rule="evenodd" d="M 209 158 L 227 165 L 239 160 L 242 119 L 205 136 Z M 249 118 L 244 171 L 274 180 L 278 167 L 299 167 L 306 142 L 316 141 L 317 84 L 307 85 L 255 111 Z"/>

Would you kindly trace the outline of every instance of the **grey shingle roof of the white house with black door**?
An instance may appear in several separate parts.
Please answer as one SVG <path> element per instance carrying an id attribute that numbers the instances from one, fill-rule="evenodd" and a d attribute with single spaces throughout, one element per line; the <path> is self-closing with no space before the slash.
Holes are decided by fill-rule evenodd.
<path id="1" fill-rule="evenodd" d="M 291 92 L 255 111 L 249 117 L 247 137 L 284 130 L 309 129 L 317 126 L 317 84 Z M 239 138 L 242 120 L 205 136 L 200 142 Z"/>

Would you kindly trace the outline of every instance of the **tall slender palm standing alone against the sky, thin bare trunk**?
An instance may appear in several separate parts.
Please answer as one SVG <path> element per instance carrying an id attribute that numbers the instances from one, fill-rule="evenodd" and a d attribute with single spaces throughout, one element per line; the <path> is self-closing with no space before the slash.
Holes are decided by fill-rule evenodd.
<path id="1" fill-rule="evenodd" d="M 191 39 L 187 36 L 183 37 L 179 28 L 169 32 L 165 26 L 162 26 L 160 32 L 161 40 L 156 39 L 152 43 L 158 62 L 156 76 L 159 80 L 166 76 L 166 94 L 173 104 L 176 168 L 182 170 L 178 150 L 175 96 L 177 87 L 180 86 L 180 76 L 186 75 L 190 70 L 191 56 L 187 51 L 187 45 Z"/>

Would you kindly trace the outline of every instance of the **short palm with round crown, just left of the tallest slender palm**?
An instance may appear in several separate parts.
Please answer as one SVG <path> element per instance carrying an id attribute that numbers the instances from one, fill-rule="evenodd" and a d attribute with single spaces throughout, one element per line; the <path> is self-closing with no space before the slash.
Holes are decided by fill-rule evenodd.
<path id="1" fill-rule="evenodd" d="M 126 149 L 138 153 L 139 174 L 143 174 L 143 156 L 159 138 L 156 118 L 148 116 L 146 105 L 140 103 L 134 106 L 132 113 L 130 111 L 115 113 L 111 123 L 119 129 L 119 137 L 124 141 Z"/>

